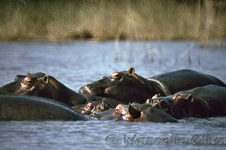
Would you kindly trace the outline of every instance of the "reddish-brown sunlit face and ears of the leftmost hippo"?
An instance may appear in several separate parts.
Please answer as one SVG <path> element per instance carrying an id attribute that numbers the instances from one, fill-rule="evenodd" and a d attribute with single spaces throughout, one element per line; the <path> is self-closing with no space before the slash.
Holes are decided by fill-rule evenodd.
<path id="1" fill-rule="evenodd" d="M 18 80 L 17 77 L 15 80 Z M 39 72 L 36 74 L 30 74 L 28 72 L 27 76 L 24 76 L 21 80 L 19 89 L 15 92 L 15 94 L 38 96 L 38 92 L 46 88 L 48 81 L 49 77 L 44 73 Z"/>

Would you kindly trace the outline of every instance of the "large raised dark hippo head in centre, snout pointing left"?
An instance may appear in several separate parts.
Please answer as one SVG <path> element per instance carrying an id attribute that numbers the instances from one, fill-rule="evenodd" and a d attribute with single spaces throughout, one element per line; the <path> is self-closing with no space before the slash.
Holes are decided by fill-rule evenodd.
<path id="1" fill-rule="evenodd" d="M 135 74 L 135 69 L 114 72 L 110 77 L 81 87 L 79 93 L 113 98 L 125 103 L 140 102 L 154 95 L 148 80 Z"/>

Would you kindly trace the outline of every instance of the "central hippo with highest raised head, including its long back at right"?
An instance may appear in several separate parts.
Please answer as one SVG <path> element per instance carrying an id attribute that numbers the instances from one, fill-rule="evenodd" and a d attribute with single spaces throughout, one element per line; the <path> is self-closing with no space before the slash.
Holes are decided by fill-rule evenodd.
<path id="1" fill-rule="evenodd" d="M 87 84 L 79 89 L 79 93 L 109 97 L 127 104 L 129 102 L 145 103 L 155 94 L 172 95 L 209 84 L 225 86 L 216 77 L 188 69 L 146 79 L 137 75 L 134 68 L 130 68 L 128 71 L 115 72 L 110 77 Z"/>

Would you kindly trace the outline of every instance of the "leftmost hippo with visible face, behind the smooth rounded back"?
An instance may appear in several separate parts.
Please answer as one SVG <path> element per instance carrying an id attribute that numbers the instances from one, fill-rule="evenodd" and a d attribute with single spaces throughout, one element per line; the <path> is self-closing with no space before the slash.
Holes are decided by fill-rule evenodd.
<path id="1" fill-rule="evenodd" d="M 54 77 L 41 72 L 28 73 L 27 76 L 17 75 L 14 82 L 0 87 L 0 91 L 54 99 L 70 106 L 87 102 L 84 96 L 67 88 Z"/>

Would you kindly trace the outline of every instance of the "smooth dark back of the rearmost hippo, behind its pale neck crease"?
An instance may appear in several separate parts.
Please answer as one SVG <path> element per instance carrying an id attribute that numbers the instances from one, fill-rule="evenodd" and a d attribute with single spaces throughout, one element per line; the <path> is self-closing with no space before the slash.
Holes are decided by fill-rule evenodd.
<path id="1" fill-rule="evenodd" d="M 188 69 L 153 76 L 148 80 L 158 86 L 164 95 L 171 95 L 179 91 L 209 84 L 225 87 L 225 84 L 214 76 Z"/>

